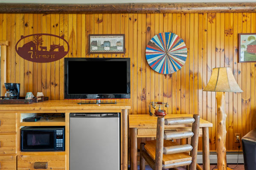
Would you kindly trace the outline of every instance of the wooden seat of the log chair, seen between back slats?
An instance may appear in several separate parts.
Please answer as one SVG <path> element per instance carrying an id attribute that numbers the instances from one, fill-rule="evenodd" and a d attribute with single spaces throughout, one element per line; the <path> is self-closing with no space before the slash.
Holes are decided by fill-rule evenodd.
<path id="1" fill-rule="evenodd" d="M 163 146 L 176 146 L 179 145 L 177 142 L 172 142 L 169 140 L 164 140 L 163 141 Z M 152 141 L 146 141 L 145 142 L 145 150 L 149 154 L 149 156 L 155 160 L 155 155 L 156 155 L 156 140 Z M 192 157 L 189 156 L 189 153 L 175 153 L 175 154 L 169 154 L 165 155 L 163 154 L 163 164 L 174 164 L 174 163 L 179 163 L 179 162 L 184 162 L 184 161 L 191 161 Z"/>

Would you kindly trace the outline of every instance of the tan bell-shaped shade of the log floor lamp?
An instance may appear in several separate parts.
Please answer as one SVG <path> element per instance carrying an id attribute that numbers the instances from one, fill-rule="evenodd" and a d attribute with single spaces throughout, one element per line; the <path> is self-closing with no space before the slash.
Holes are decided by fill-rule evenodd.
<path id="1" fill-rule="evenodd" d="M 229 67 L 212 69 L 212 76 L 203 91 L 243 92 Z"/>

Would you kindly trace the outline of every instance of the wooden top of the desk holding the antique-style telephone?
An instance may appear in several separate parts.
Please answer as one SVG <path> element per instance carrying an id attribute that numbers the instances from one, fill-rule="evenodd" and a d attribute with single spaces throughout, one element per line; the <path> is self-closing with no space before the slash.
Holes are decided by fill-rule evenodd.
<path id="1" fill-rule="evenodd" d="M 149 114 L 131 114 L 129 116 L 129 127 L 130 128 L 157 128 L 157 116 L 150 116 Z M 164 116 L 165 119 L 174 118 L 174 117 L 192 117 L 192 114 L 167 114 Z M 170 127 L 191 127 L 191 125 L 173 125 L 165 126 L 166 128 Z M 200 127 L 212 127 L 212 123 L 207 120 L 200 118 Z"/>

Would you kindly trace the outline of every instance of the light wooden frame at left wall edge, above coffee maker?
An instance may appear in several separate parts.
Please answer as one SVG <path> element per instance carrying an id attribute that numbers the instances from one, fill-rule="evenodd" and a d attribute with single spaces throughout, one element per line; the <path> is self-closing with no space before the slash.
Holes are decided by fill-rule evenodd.
<path id="1" fill-rule="evenodd" d="M 0 41 L 1 48 L 1 61 L 0 61 L 0 69 L 1 69 L 1 87 L 0 87 L 0 96 L 4 96 L 6 93 L 6 88 L 4 87 L 4 83 L 6 82 L 6 56 L 7 56 L 7 46 L 9 45 L 8 41 Z"/>

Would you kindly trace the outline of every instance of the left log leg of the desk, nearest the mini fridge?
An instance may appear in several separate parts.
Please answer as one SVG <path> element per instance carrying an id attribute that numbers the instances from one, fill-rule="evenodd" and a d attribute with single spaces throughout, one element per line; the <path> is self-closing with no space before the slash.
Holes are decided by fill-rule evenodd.
<path id="1" fill-rule="evenodd" d="M 131 170 L 137 170 L 137 128 L 131 128 Z"/>

